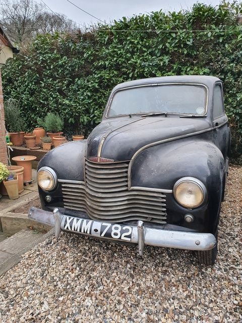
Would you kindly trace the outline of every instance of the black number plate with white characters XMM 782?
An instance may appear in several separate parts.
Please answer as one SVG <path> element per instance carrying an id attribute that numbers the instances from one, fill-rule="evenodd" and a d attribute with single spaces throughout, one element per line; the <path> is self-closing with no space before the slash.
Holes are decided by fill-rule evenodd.
<path id="1" fill-rule="evenodd" d="M 112 223 L 101 223 L 92 220 L 78 219 L 75 217 L 64 217 L 64 222 L 61 225 L 63 230 L 101 238 L 131 241 L 133 227 Z"/>

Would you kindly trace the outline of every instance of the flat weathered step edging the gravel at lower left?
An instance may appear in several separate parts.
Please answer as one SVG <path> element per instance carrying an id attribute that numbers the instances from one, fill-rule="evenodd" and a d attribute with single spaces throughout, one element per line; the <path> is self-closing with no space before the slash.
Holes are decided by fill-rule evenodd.
<path id="1" fill-rule="evenodd" d="M 24 229 L 0 242 L 0 276 L 22 259 L 22 254 L 54 234 L 54 229 L 46 234 Z"/>

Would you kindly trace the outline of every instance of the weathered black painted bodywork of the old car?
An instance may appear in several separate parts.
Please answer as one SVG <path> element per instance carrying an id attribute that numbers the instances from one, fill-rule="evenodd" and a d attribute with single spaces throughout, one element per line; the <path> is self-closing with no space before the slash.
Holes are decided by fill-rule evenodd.
<path id="1" fill-rule="evenodd" d="M 125 87 L 159 83 L 206 85 L 207 117 L 179 118 L 177 115 L 168 115 L 142 118 L 136 115 L 131 118 L 106 118 L 109 102 L 115 91 Z M 41 159 L 38 169 L 49 166 L 56 172 L 58 179 L 84 181 L 85 158 L 97 156 L 99 151 L 101 157 L 114 161 L 132 159 L 131 186 L 172 190 L 178 179 L 195 177 L 206 186 L 207 199 L 200 207 L 189 210 L 180 206 L 172 193 L 167 193 L 167 226 L 214 233 L 218 223 L 230 143 L 226 115 L 213 119 L 213 90 L 216 83 L 221 81 L 214 77 L 182 76 L 119 84 L 110 94 L 102 122 L 88 139 L 70 142 L 51 150 Z M 139 149 L 141 151 L 137 153 Z M 48 193 L 39 188 L 39 194 L 44 208 L 63 207 L 61 185 L 58 184 L 55 190 Z M 48 205 L 44 200 L 47 194 L 53 198 Z M 196 221 L 186 223 L 186 213 L 193 214 Z"/>

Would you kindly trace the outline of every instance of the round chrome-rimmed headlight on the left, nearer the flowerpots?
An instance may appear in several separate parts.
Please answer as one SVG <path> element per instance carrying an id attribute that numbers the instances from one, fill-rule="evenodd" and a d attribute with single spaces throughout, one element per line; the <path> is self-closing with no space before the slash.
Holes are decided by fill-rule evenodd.
<path id="1" fill-rule="evenodd" d="M 57 185 L 57 175 L 50 167 L 41 167 L 37 173 L 37 183 L 45 191 L 51 191 Z"/>

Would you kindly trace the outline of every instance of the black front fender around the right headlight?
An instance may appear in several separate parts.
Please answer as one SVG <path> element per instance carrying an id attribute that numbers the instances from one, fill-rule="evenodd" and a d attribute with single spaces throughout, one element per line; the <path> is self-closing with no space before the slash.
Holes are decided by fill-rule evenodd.
<path id="1" fill-rule="evenodd" d="M 212 142 L 187 138 L 141 151 L 130 164 L 129 186 L 170 190 L 166 193 L 168 223 L 213 233 L 218 223 L 224 172 L 223 155 Z M 195 177 L 205 185 L 204 204 L 190 210 L 176 202 L 171 191 L 183 177 Z M 186 213 L 194 215 L 194 223 L 184 221 Z"/>

